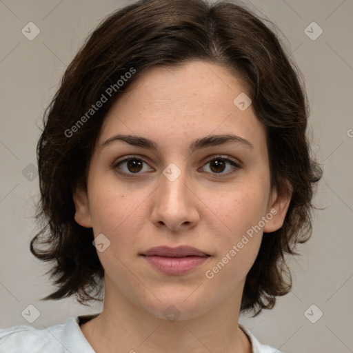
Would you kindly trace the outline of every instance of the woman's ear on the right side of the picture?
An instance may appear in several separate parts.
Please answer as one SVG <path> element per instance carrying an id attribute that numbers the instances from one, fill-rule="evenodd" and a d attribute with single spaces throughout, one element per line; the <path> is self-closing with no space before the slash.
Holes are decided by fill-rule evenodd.
<path id="1" fill-rule="evenodd" d="M 289 181 L 285 181 L 287 184 L 287 190 L 281 190 L 279 192 L 276 188 L 273 188 L 270 201 L 268 204 L 268 214 L 272 214 L 272 218 L 267 217 L 269 220 L 263 227 L 264 233 L 274 232 L 282 227 L 285 214 L 287 214 L 290 200 L 292 199 L 292 185 Z"/>

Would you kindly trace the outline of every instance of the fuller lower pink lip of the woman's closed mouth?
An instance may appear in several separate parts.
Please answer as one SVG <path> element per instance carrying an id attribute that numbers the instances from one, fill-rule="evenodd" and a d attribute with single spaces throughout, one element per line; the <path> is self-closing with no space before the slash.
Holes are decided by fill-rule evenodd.
<path id="1" fill-rule="evenodd" d="M 185 257 L 166 257 L 166 256 L 143 256 L 150 265 L 165 274 L 184 274 L 199 267 L 208 256 L 185 256 Z"/>

